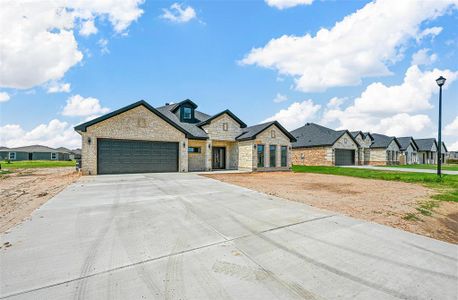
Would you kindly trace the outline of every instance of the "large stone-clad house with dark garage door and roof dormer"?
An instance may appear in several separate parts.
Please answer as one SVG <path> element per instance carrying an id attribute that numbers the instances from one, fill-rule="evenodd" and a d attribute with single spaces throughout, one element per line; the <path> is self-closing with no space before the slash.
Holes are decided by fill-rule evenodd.
<path id="1" fill-rule="evenodd" d="M 294 137 L 278 122 L 248 127 L 230 110 L 144 100 L 80 124 L 83 174 L 289 170 Z"/>

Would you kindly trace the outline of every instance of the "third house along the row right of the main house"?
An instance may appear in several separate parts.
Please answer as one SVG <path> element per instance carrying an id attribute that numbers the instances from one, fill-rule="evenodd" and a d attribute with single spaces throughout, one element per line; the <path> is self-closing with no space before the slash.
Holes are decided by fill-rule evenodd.
<path id="1" fill-rule="evenodd" d="M 373 141 L 369 165 L 386 166 L 399 164 L 401 145 L 393 136 L 371 133 Z"/>

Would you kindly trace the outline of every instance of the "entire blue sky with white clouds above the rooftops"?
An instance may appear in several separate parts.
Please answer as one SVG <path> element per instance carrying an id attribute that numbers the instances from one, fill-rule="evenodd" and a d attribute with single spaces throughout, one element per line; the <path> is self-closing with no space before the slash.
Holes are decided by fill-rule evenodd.
<path id="1" fill-rule="evenodd" d="M 78 147 L 73 125 L 186 98 L 250 125 L 426 137 L 443 74 L 444 138 L 458 150 L 455 0 L 112 2 L 2 8 L 18 28 L 0 26 L 1 145 Z"/>

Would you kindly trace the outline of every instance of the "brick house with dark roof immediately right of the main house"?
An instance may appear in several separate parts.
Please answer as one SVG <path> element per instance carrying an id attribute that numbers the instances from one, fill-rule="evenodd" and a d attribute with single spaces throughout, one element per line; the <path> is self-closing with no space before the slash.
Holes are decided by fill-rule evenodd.
<path id="1" fill-rule="evenodd" d="M 340 166 L 358 164 L 359 144 L 348 130 L 333 130 L 315 123 L 291 131 L 294 165 Z"/>

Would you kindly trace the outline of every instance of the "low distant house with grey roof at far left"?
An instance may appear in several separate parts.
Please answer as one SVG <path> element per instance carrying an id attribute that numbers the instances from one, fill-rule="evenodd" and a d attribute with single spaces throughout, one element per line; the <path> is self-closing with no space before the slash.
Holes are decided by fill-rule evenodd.
<path id="1" fill-rule="evenodd" d="M 69 160 L 69 155 L 42 145 L 0 149 L 0 157 L 9 160 Z"/>

